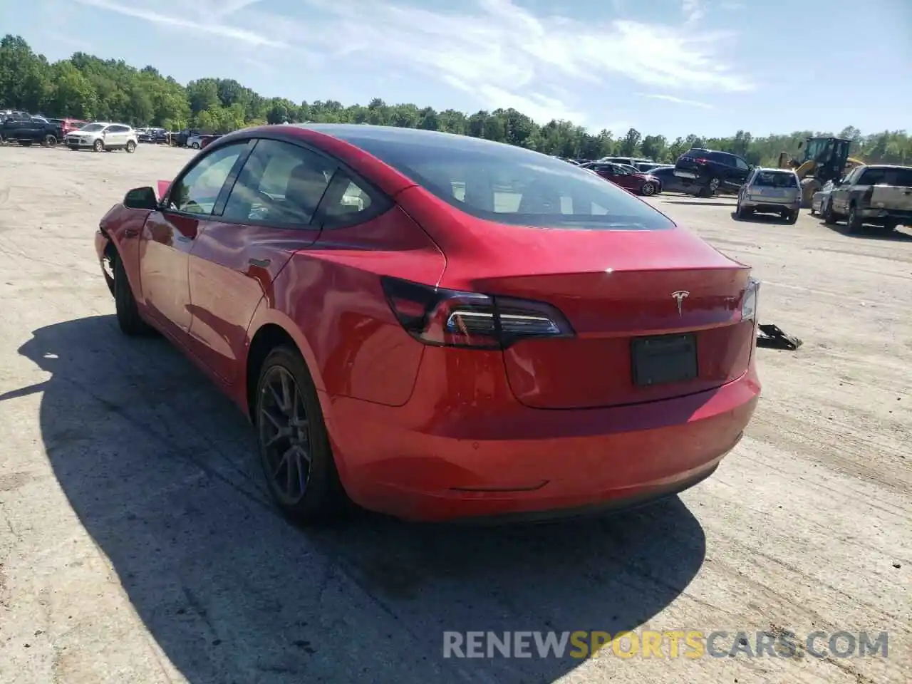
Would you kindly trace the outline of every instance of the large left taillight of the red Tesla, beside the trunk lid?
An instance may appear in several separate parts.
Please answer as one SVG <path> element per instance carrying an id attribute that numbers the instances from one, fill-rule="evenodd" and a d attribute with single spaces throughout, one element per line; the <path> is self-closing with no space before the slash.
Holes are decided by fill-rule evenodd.
<path id="1" fill-rule="evenodd" d="M 428 345 L 503 349 L 521 339 L 573 337 L 560 311 L 525 299 L 420 285 L 389 276 L 383 292 L 399 324 Z"/>

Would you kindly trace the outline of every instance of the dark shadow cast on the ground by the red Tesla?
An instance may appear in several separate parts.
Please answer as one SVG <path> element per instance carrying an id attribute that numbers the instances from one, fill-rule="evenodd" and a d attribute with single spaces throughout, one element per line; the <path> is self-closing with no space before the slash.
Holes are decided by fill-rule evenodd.
<path id="1" fill-rule="evenodd" d="M 19 352 L 50 374 L 33 390 L 57 481 L 192 684 L 550 682 L 581 660 L 444 659 L 443 631 L 616 634 L 704 558 L 677 497 L 534 526 L 359 513 L 299 530 L 267 502 L 241 414 L 163 338 L 95 316 L 37 329 Z"/>

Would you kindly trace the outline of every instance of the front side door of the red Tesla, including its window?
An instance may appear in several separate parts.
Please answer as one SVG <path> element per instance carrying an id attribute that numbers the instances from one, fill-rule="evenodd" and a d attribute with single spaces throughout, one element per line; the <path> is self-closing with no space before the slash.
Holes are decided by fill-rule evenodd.
<path id="1" fill-rule="evenodd" d="M 246 140 L 194 159 L 151 212 L 140 241 L 140 289 L 150 316 L 174 336 L 190 331 L 190 252 L 203 223 L 212 221 L 228 180 L 249 152 Z"/>

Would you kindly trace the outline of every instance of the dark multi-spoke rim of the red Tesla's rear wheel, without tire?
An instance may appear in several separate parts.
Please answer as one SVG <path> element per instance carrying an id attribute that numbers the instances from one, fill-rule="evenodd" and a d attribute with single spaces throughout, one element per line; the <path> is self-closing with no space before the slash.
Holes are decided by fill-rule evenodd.
<path id="1" fill-rule="evenodd" d="M 279 500 L 294 505 L 304 498 L 312 460 L 304 399 L 287 368 L 266 371 L 257 422 L 266 477 Z"/>

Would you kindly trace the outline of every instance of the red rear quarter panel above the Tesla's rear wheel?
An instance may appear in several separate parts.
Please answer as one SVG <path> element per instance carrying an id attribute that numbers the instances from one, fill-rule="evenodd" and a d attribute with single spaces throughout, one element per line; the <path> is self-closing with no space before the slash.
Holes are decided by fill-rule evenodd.
<path id="1" fill-rule="evenodd" d="M 411 397 L 424 346 L 399 325 L 380 276 L 435 285 L 445 264 L 440 248 L 398 206 L 368 223 L 323 231 L 276 277 L 248 337 L 265 323 L 281 325 L 318 390 L 401 406 Z"/>

